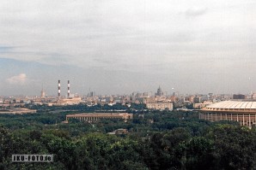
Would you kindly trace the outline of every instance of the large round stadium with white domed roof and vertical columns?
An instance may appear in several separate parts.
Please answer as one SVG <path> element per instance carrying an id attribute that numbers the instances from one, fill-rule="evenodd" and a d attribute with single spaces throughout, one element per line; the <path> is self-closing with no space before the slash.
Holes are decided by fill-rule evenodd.
<path id="1" fill-rule="evenodd" d="M 256 125 L 256 102 L 252 101 L 222 101 L 202 108 L 199 119 L 219 121 L 233 120 L 241 126 Z"/>

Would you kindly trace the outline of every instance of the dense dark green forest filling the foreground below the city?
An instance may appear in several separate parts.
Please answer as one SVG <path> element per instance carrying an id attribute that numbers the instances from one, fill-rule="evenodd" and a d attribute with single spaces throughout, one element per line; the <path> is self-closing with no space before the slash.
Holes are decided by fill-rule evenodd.
<path id="1" fill-rule="evenodd" d="M 199 120 L 197 112 L 77 105 L 37 106 L 0 115 L 0 169 L 256 169 L 256 130 Z M 133 120 L 70 120 L 66 114 L 120 110 Z M 119 128 L 128 133 L 112 135 Z M 12 162 L 14 154 L 53 154 L 53 162 Z"/>

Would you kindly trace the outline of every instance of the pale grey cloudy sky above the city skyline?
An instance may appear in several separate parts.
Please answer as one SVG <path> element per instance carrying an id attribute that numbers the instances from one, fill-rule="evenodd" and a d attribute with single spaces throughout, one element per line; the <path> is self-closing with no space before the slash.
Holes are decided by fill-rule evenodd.
<path id="1" fill-rule="evenodd" d="M 254 0 L 0 3 L 0 96 L 256 91 Z"/>

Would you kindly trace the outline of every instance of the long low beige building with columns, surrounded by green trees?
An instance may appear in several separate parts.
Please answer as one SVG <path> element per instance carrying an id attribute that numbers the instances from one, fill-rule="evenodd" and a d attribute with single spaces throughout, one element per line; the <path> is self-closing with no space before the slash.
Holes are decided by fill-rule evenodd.
<path id="1" fill-rule="evenodd" d="M 100 119 L 122 119 L 122 120 L 131 120 L 133 117 L 133 114 L 116 114 L 116 113 L 83 113 L 83 114 L 67 114 L 66 115 L 66 123 L 69 122 L 70 119 L 78 119 L 78 120 L 84 120 L 88 122 L 94 122 Z"/>

